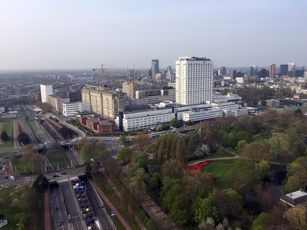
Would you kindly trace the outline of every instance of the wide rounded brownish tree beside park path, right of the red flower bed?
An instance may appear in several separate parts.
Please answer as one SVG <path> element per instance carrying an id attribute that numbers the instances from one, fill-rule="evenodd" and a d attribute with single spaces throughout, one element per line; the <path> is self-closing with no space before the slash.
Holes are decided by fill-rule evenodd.
<path id="1" fill-rule="evenodd" d="M 270 161 L 271 159 L 269 148 L 266 145 L 257 142 L 252 142 L 242 148 L 240 156 L 246 159 L 251 159 L 256 164 L 260 163 L 262 160 Z"/>

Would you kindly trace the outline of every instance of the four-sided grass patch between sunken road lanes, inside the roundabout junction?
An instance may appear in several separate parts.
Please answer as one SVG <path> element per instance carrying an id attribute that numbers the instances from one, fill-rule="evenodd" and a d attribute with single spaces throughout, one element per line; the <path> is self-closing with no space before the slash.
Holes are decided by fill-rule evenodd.
<path id="1" fill-rule="evenodd" d="M 70 167 L 70 160 L 68 159 L 64 149 L 61 147 L 58 148 L 57 152 L 55 149 L 46 149 L 45 155 L 54 170 L 65 169 L 67 166 Z"/>

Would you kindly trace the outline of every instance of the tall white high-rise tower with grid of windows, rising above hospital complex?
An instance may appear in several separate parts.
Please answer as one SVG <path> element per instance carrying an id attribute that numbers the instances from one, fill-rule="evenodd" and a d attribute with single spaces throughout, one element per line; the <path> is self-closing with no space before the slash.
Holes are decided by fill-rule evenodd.
<path id="1" fill-rule="evenodd" d="M 176 102 L 195 105 L 212 101 L 213 61 L 205 57 L 180 57 L 176 61 Z"/>

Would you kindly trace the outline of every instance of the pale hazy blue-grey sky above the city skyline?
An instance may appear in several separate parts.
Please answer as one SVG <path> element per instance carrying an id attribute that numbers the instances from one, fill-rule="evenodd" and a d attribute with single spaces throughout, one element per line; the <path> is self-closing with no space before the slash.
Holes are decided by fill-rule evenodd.
<path id="1" fill-rule="evenodd" d="M 0 69 L 307 65 L 307 1 L 0 0 Z"/>

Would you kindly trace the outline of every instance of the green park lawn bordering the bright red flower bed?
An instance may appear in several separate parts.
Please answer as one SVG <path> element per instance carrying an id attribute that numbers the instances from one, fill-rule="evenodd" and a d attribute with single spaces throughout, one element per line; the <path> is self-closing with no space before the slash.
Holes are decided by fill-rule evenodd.
<path id="1" fill-rule="evenodd" d="M 227 171 L 234 166 L 236 160 L 237 159 L 231 159 L 229 163 L 212 162 L 212 165 L 206 164 L 201 168 L 201 172 L 211 173 L 212 177 L 216 177 L 217 182 L 213 184 L 214 187 L 220 189 L 230 188 L 231 184 L 227 178 Z"/>

